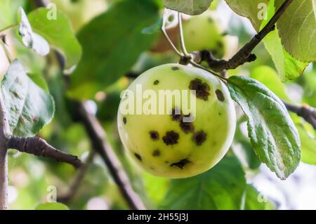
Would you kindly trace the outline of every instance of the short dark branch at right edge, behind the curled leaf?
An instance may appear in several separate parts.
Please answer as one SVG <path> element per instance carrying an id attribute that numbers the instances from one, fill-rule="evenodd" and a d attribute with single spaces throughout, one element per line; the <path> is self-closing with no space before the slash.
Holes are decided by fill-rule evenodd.
<path id="1" fill-rule="evenodd" d="M 291 105 L 287 102 L 283 102 L 287 107 L 287 110 L 294 112 L 299 117 L 303 117 L 306 122 L 312 125 L 312 127 L 316 130 L 316 108 L 310 107 L 309 105 L 297 106 Z"/>

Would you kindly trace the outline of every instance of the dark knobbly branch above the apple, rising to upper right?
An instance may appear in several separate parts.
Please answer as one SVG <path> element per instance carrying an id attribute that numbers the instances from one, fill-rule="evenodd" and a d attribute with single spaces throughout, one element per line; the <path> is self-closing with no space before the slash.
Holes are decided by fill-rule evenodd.
<path id="1" fill-rule="evenodd" d="M 271 18 L 263 29 L 261 29 L 258 34 L 256 34 L 246 45 L 244 45 L 230 60 L 218 60 L 213 57 L 210 51 L 197 51 L 194 52 L 194 58 L 197 63 L 206 61 L 209 64 L 211 70 L 215 72 L 223 72 L 223 70 L 233 70 L 246 62 L 252 62 L 256 60 L 256 55 L 251 52 L 260 44 L 260 42 L 267 36 L 270 32 L 275 29 L 275 23 L 281 18 L 283 13 L 287 10 L 289 5 L 293 0 L 286 0 L 284 4 L 280 6 L 275 15 Z"/>

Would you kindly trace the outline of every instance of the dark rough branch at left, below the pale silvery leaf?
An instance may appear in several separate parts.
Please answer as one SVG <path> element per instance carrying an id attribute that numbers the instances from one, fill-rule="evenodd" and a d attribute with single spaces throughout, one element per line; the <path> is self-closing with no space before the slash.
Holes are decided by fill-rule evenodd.
<path id="1" fill-rule="evenodd" d="M 46 143 L 46 140 L 42 138 L 20 138 L 12 136 L 6 140 L 6 147 L 28 154 L 34 154 L 39 157 L 51 158 L 57 162 L 65 162 L 76 168 L 81 166 L 81 161 L 78 157 L 55 149 L 55 147 Z"/>

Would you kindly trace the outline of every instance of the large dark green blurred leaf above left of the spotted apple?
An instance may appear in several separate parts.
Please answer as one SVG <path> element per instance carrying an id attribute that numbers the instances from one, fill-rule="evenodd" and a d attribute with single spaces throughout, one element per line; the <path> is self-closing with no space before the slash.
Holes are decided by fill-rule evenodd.
<path id="1" fill-rule="evenodd" d="M 158 18 L 153 1 L 124 0 L 81 29 L 84 55 L 70 78 L 69 95 L 92 98 L 128 72 L 156 39 L 157 34 L 142 34 L 142 30 Z"/>

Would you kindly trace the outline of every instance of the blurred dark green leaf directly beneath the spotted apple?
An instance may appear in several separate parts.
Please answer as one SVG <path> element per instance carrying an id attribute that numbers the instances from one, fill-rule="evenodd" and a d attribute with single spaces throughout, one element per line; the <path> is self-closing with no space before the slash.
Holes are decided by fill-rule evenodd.
<path id="1" fill-rule="evenodd" d="M 242 166 L 225 157 L 199 176 L 171 180 L 161 209 L 241 209 L 245 187 Z"/>

